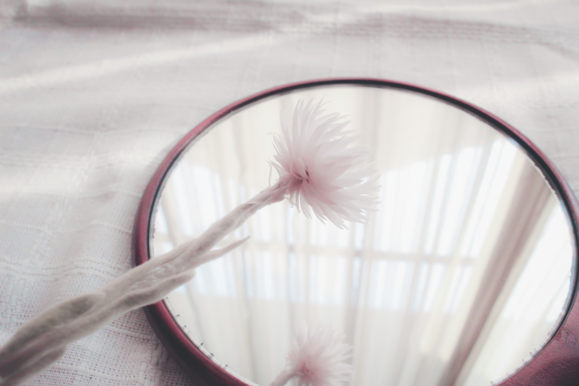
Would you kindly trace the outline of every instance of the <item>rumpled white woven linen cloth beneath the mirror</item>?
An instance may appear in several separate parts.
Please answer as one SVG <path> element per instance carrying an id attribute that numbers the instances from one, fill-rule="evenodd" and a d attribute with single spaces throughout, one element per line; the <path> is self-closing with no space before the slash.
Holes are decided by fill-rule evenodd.
<path id="1" fill-rule="evenodd" d="M 0 2 L 0 343 L 130 269 L 141 194 L 217 109 L 307 79 L 431 87 L 503 118 L 579 192 L 579 3 Z M 192 385 L 141 310 L 29 385 Z"/>

